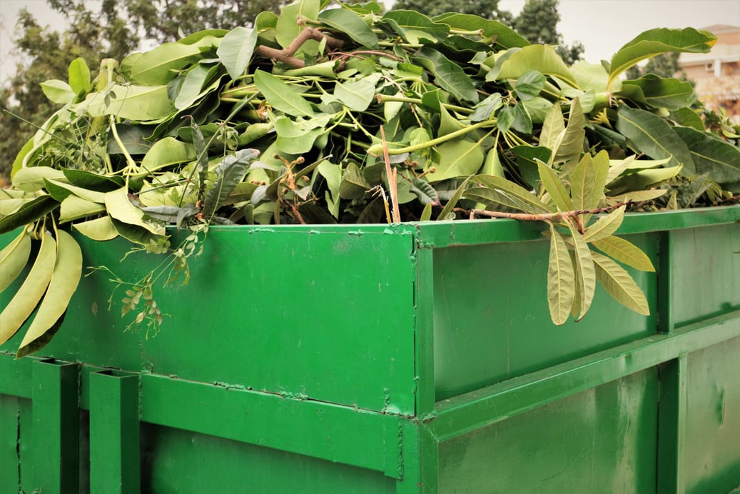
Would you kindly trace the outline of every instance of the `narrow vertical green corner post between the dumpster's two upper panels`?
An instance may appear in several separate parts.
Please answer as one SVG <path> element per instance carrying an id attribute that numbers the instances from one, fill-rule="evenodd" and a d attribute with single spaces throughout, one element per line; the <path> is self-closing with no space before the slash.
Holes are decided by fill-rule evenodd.
<path id="1" fill-rule="evenodd" d="M 416 416 L 434 413 L 434 251 L 417 247 L 415 335 Z"/>

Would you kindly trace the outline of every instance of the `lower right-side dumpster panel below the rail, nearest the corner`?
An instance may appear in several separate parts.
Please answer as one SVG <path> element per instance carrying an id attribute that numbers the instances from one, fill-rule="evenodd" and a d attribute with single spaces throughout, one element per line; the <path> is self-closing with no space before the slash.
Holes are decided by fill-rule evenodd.
<path id="1" fill-rule="evenodd" d="M 440 493 L 650 493 L 656 370 L 440 443 Z"/>

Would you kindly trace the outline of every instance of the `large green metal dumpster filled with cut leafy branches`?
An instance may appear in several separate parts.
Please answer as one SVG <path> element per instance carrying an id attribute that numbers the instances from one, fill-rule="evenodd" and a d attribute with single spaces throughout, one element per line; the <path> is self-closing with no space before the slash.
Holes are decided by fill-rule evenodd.
<path id="1" fill-rule="evenodd" d="M 0 492 L 730 492 L 739 219 L 628 215 L 651 315 L 562 327 L 538 224 L 213 227 L 158 336 L 97 273 L 43 355 L 0 347 Z"/>

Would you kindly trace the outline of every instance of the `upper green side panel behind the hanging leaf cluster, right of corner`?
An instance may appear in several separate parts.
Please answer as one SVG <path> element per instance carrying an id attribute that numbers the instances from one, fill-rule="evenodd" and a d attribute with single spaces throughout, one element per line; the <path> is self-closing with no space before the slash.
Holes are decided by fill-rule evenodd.
<path id="1" fill-rule="evenodd" d="M 655 263 L 656 236 L 628 239 Z M 548 241 L 528 241 L 434 251 L 437 400 L 656 332 L 656 276 L 634 271 L 650 302 L 649 317 L 626 309 L 599 286 L 582 321 L 554 327 L 546 293 L 548 248 Z"/>

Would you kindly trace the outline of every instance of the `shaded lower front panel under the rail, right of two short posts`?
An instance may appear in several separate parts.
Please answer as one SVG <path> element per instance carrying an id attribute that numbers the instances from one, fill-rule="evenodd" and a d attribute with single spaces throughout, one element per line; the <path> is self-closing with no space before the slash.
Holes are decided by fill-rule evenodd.
<path id="1" fill-rule="evenodd" d="M 142 424 L 144 492 L 392 493 L 383 473 L 268 447 Z"/>

